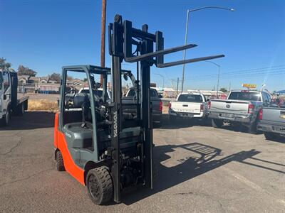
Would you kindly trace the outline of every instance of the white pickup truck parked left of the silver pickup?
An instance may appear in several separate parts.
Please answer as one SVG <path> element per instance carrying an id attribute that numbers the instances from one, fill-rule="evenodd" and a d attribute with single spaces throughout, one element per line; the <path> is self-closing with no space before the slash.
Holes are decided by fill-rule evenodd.
<path id="1" fill-rule="evenodd" d="M 175 102 L 170 102 L 168 114 L 170 119 L 206 119 L 207 99 L 201 93 L 182 92 L 178 94 Z"/>

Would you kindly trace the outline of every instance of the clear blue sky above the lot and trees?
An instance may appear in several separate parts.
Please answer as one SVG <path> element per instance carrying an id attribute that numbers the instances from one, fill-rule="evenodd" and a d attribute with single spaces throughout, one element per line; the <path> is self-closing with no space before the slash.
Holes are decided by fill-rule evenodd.
<path id="1" fill-rule="evenodd" d="M 223 6 L 236 11 L 205 9 L 190 13 L 188 43 L 197 48 L 187 58 L 224 54 L 220 87 L 239 89 L 242 83 L 285 89 L 285 1 L 150 1 L 107 0 L 107 24 L 116 13 L 140 28 L 162 31 L 165 48 L 184 44 L 187 9 Z M 38 71 L 61 72 L 63 65 L 100 65 L 100 0 L 0 0 L 0 57 Z M 110 66 L 106 40 L 106 66 Z M 182 53 L 165 61 L 181 60 Z M 124 68 L 135 71 L 135 64 Z M 182 77 L 182 66 L 152 68 L 152 82 L 170 87 Z M 174 84 L 174 83 L 173 83 Z M 187 89 L 213 89 L 217 67 L 207 62 L 186 65 Z M 217 87 L 217 86 L 215 86 Z"/>

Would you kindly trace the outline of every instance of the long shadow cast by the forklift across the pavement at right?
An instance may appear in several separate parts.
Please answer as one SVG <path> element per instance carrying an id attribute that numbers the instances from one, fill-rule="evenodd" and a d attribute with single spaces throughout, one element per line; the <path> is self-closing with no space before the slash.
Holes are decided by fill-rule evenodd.
<path id="1" fill-rule="evenodd" d="M 175 152 L 176 148 L 183 148 L 186 151 L 190 151 L 188 157 L 177 160 L 176 165 L 170 168 L 162 165 L 160 162 L 170 158 L 167 153 Z M 194 153 L 199 154 L 200 157 L 192 157 Z M 156 157 L 154 161 L 158 164 L 158 175 L 157 180 L 154 182 L 154 189 L 149 190 L 147 188 L 140 188 L 140 190 L 135 190 L 132 192 L 132 196 L 128 195 L 130 194 L 129 192 L 126 192 L 127 195 L 123 196 L 123 203 L 128 205 L 133 204 L 134 202 L 138 202 L 138 200 L 142 200 L 145 197 L 154 195 L 157 192 L 167 190 L 170 187 L 179 185 L 182 182 L 195 178 L 233 161 L 285 174 L 285 172 L 282 170 L 275 170 L 273 168 L 265 167 L 264 165 L 259 165 L 258 163 L 264 161 L 266 161 L 266 163 L 271 163 L 268 160 L 254 158 L 254 155 L 259 153 L 259 151 L 253 149 L 250 151 L 241 151 L 239 153 L 234 153 L 232 155 L 225 156 L 224 158 L 214 160 L 214 158 L 217 156 L 222 155 L 222 151 L 219 148 L 214 148 L 201 143 L 188 143 L 181 146 L 157 146 L 154 148 L 154 156 Z M 244 161 L 247 159 L 251 159 L 251 163 Z M 252 160 L 254 160 L 254 163 L 252 163 Z M 276 165 L 278 163 L 271 164 Z M 285 165 L 282 166 L 285 167 Z"/>

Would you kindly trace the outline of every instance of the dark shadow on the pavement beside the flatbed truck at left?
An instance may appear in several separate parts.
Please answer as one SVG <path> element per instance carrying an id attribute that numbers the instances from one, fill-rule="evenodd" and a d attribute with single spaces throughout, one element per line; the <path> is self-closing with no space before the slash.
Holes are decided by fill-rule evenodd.
<path id="1" fill-rule="evenodd" d="M 9 126 L 1 130 L 41 129 L 54 126 L 54 113 L 48 111 L 26 111 L 23 116 L 12 116 Z"/>

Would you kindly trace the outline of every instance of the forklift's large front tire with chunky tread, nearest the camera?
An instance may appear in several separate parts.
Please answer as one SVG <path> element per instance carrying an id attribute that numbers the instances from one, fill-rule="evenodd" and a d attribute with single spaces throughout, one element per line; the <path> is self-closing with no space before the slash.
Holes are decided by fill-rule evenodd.
<path id="1" fill-rule="evenodd" d="M 88 195 L 97 205 L 107 204 L 113 197 L 113 182 L 105 166 L 88 171 L 86 177 Z"/>

